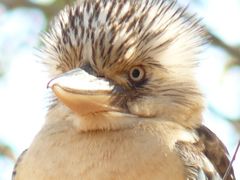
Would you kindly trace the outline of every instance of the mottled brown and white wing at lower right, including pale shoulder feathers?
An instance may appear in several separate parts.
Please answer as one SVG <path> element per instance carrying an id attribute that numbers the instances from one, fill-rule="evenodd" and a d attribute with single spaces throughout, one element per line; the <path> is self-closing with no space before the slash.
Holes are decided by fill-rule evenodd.
<path id="1" fill-rule="evenodd" d="M 175 145 L 179 157 L 185 165 L 187 179 L 220 180 L 230 164 L 228 151 L 220 139 L 207 127 L 196 129 L 198 141 L 195 143 L 178 141 Z M 231 167 L 224 180 L 235 180 Z"/>

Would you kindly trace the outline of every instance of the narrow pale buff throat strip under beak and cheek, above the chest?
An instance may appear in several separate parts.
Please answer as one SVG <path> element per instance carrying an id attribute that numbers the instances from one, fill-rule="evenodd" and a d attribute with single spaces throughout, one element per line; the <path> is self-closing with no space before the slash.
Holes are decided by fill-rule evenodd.
<path id="1" fill-rule="evenodd" d="M 175 113 L 177 114 L 177 112 Z M 174 116 L 173 113 L 170 113 L 172 117 L 165 117 L 164 114 L 147 118 L 119 112 L 102 112 L 79 117 L 69 108 L 59 103 L 49 110 L 46 124 L 66 122 L 78 131 L 127 129 L 134 127 L 140 121 L 172 121 L 186 128 L 195 128 L 201 124 L 201 112 L 185 113 L 182 116 Z"/>

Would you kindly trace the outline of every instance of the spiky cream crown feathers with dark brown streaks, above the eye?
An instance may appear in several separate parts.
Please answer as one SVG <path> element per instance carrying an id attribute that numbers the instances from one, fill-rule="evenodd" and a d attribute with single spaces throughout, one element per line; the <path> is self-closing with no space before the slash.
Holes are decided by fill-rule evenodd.
<path id="1" fill-rule="evenodd" d="M 44 63 L 53 76 L 85 63 L 100 71 L 146 59 L 170 71 L 192 68 L 204 43 L 198 21 L 176 1 L 78 1 L 43 36 Z"/>

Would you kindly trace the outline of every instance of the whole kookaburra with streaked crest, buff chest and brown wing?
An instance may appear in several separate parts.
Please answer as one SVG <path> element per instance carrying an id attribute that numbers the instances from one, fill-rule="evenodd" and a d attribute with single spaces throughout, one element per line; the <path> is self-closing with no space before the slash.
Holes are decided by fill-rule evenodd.
<path id="1" fill-rule="evenodd" d="M 41 51 L 53 98 L 13 179 L 223 179 L 227 151 L 202 125 L 194 78 L 203 29 L 172 0 L 62 10 Z"/>

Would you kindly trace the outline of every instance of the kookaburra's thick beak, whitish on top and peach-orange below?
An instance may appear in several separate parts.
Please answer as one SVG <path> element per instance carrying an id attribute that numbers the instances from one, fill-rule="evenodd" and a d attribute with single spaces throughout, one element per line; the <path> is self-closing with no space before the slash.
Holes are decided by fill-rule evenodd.
<path id="1" fill-rule="evenodd" d="M 52 79 L 48 87 L 79 116 L 117 111 L 110 105 L 113 86 L 105 79 L 90 75 L 80 68 Z"/>

